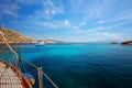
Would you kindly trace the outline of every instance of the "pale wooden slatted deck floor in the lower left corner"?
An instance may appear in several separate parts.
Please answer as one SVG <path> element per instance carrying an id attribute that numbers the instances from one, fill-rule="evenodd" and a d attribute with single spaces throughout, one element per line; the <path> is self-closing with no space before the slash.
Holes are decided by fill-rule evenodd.
<path id="1" fill-rule="evenodd" d="M 2 62 L 0 62 L 0 88 L 23 88 L 16 74 Z"/>

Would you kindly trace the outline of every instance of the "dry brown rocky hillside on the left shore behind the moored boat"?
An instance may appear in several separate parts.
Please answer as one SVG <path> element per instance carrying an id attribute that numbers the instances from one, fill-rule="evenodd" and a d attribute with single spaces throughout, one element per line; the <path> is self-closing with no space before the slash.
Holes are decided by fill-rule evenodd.
<path id="1" fill-rule="evenodd" d="M 6 38 L 8 40 L 9 43 L 36 43 L 37 40 L 23 35 L 19 32 L 6 29 L 6 28 L 0 28 L 0 31 L 3 33 Z M 56 40 L 44 40 L 45 43 L 63 43 L 62 41 L 56 41 Z M 0 35 L 0 43 L 3 43 L 3 40 Z"/>

